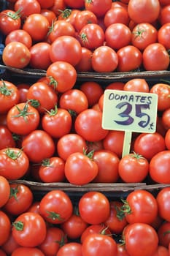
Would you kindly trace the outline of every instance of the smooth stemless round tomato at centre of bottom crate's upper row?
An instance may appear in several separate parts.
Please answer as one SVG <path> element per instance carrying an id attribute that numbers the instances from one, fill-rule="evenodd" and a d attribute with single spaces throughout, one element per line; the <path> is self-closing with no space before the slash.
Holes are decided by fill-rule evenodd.
<path id="1" fill-rule="evenodd" d="M 110 214 L 109 200 L 101 192 L 85 192 L 79 200 L 80 216 L 88 224 L 105 222 Z"/>

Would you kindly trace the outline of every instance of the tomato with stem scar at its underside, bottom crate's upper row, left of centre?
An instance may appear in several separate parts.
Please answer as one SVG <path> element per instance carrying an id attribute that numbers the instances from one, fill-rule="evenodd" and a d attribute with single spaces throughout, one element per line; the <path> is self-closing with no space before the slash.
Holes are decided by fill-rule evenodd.
<path id="1" fill-rule="evenodd" d="M 61 224 L 72 216 L 72 201 L 66 192 L 54 189 L 40 200 L 39 213 L 47 222 Z"/>

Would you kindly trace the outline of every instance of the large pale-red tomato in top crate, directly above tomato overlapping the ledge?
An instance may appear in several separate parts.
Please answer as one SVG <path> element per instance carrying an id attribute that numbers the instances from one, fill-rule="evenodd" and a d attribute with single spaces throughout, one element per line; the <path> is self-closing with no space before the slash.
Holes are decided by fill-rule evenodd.
<path id="1" fill-rule="evenodd" d="M 82 55 L 80 42 L 72 36 L 60 36 L 56 38 L 50 47 L 50 59 L 55 61 L 66 61 L 72 66 L 78 64 Z"/>

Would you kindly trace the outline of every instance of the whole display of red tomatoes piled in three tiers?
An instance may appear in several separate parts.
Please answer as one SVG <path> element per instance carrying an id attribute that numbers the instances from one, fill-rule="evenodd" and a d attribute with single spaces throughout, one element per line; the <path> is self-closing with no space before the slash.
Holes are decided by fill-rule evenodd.
<path id="1" fill-rule="evenodd" d="M 45 75 L 0 81 L 0 256 L 170 254 L 169 81 L 77 82 L 77 72 L 168 70 L 169 17 L 169 0 L 7 1 L 1 63 Z M 125 132 L 101 125 L 106 89 L 158 95 L 156 131 L 134 132 L 125 156 Z M 39 195 L 23 180 L 146 189 Z"/>

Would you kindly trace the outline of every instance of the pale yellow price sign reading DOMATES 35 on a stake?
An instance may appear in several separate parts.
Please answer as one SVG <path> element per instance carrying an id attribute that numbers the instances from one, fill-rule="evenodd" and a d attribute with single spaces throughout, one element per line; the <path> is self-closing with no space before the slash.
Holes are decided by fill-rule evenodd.
<path id="1" fill-rule="evenodd" d="M 102 127 L 125 131 L 123 155 L 128 154 L 132 132 L 155 132 L 157 108 L 157 94 L 107 89 L 104 91 Z"/>

